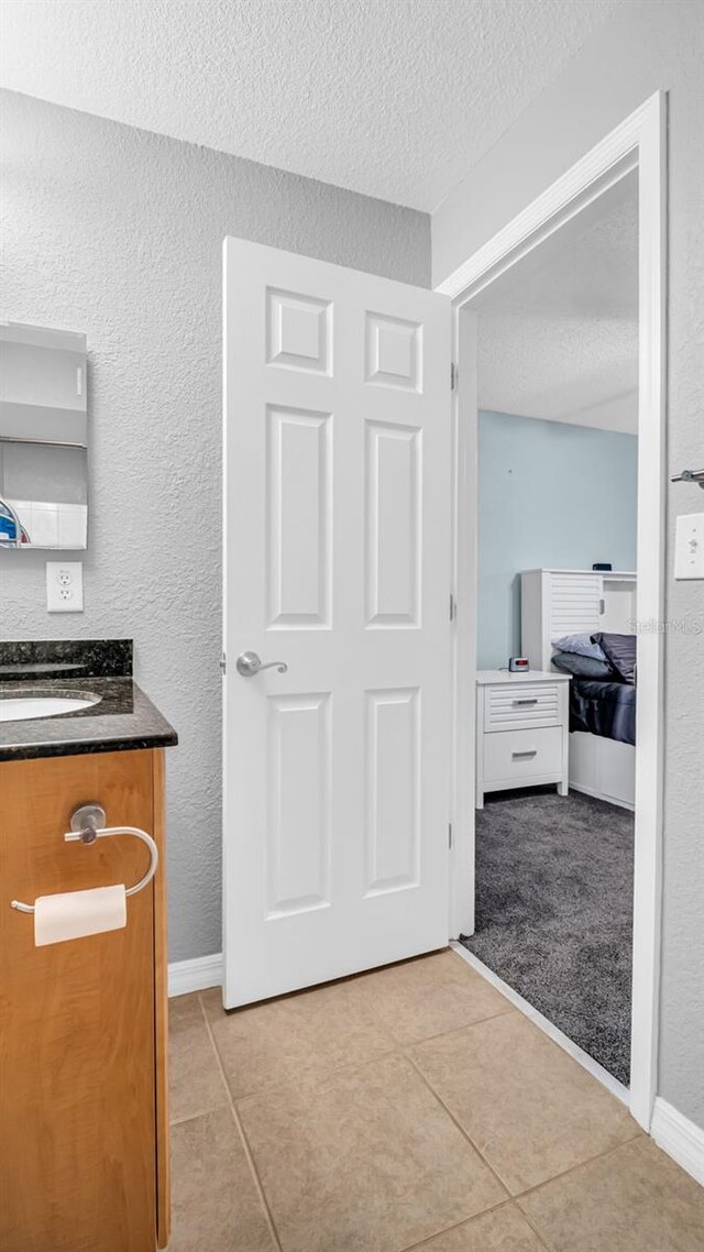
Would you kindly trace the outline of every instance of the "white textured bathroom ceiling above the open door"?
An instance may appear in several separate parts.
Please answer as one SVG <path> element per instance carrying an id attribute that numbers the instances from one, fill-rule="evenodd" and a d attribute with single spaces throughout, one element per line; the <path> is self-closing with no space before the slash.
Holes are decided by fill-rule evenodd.
<path id="1" fill-rule="evenodd" d="M 4 86 L 430 212 L 625 0 L 3 0 Z"/>

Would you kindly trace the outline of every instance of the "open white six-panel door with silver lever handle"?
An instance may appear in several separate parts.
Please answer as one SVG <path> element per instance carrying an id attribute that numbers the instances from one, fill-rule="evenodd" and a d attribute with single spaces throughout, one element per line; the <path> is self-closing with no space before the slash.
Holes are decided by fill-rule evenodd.
<path id="1" fill-rule="evenodd" d="M 224 293 L 232 1008 L 447 942 L 450 302 L 239 239 Z"/>

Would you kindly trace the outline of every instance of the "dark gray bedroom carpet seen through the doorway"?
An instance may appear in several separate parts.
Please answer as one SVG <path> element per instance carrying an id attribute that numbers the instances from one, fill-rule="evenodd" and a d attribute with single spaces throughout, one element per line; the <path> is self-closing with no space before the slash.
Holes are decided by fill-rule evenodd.
<path id="1" fill-rule="evenodd" d="M 629 1082 L 634 818 L 554 789 L 496 793 L 477 813 L 476 933 L 505 983 Z"/>

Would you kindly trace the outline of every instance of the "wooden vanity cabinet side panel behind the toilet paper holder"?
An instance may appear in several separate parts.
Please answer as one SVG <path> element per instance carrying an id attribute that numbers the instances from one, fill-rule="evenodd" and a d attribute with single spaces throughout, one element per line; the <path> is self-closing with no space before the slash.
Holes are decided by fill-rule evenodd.
<path id="1" fill-rule="evenodd" d="M 10 908 L 137 883 L 130 835 L 65 843 L 74 809 L 148 831 L 154 880 L 120 930 L 45 948 Z M 162 749 L 0 762 L 0 1247 L 153 1252 L 168 1242 Z"/>

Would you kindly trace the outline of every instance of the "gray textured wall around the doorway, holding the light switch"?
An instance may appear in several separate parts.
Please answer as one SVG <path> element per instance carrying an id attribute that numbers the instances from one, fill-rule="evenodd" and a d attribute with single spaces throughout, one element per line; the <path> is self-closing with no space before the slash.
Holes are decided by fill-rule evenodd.
<path id="1" fill-rule="evenodd" d="M 704 5 L 624 5 L 433 215 L 440 282 L 658 89 L 669 93 L 668 464 L 704 464 Z M 666 766 L 659 1090 L 704 1127 L 704 583 L 674 582 L 669 491 Z"/>

